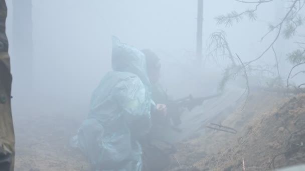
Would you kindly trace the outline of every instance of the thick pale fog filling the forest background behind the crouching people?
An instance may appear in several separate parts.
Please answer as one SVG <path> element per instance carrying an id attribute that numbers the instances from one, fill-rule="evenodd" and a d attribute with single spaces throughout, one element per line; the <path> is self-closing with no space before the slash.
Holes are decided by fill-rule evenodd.
<path id="1" fill-rule="evenodd" d="M 79 122 L 88 114 L 92 91 L 111 70 L 112 35 L 139 49 L 155 51 L 163 64 L 161 82 L 174 97 L 189 93 L 204 96 L 216 92 L 222 71 L 229 65 L 229 60 L 220 58 L 217 64 L 207 55 L 211 33 L 224 30 L 233 55 L 237 53 L 246 62 L 259 56 L 273 41 L 276 31 L 260 39 L 268 32 L 268 24 L 277 24 L 286 10 L 284 0 L 274 1 L 258 8 L 257 20 L 244 17 L 225 26 L 217 24 L 215 17 L 255 5 L 204 0 L 203 60 L 198 68 L 193 67 L 197 0 L 32 0 L 33 22 L 29 24 L 33 24 L 33 72 L 26 77 L 33 79 L 27 79 L 16 67 L 19 59 L 14 56 L 14 6 L 12 0 L 7 3 L 14 119 L 42 113 L 68 118 L 75 115 Z M 297 47 L 293 41 L 297 39 L 286 40 L 280 35 L 274 44 L 284 79 L 291 68 L 286 54 Z M 271 49 L 257 61 L 274 62 Z M 23 82 L 29 80 L 33 80 L 32 87 L 24 86 Z"/>

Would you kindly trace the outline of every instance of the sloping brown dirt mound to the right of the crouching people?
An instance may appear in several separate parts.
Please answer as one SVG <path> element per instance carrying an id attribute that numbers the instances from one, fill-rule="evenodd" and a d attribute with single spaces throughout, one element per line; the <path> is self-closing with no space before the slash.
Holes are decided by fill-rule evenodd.
<path id="1" fill-rule="evenodd" d="M 270 170 L 305 162 L 305 94 L 251 93 L 244 110 L 223 125 L 230 134 L 211 130 L 180 143 L 167 170 Z"/>

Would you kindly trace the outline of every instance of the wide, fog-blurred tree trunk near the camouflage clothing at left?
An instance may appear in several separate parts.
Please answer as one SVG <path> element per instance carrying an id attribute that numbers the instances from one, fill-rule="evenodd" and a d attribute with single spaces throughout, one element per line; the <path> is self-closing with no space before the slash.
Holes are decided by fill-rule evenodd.
<path id="1" fill-rule="evenodd" d="M 13 0 L 13 56 L 17 84 L 33 83 L 32 0 Z"/>

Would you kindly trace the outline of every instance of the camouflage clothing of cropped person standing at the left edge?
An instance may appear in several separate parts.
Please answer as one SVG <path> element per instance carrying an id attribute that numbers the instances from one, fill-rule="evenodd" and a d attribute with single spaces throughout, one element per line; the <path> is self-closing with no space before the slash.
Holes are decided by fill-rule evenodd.
<path id="1" fill-rule="evenodd" d="M 0 0 L 0 171 L 14 170 L 15 154 L 15 135 L 11 112 L 12 75 L 6 18 L 6 1 Z"/>

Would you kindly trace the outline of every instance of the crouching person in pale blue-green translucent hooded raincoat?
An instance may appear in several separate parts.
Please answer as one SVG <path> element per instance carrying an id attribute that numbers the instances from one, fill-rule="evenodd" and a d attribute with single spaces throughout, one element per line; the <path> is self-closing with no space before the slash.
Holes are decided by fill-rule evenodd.
<path id="1" fill-rule="evenodd" d="M 150 127 L 151 100 L 144 54 L 113 37 L 112 68 L 94 90 L 75 144 L 96 170 L 142 170 L 139 138 Z"/>

